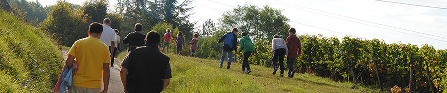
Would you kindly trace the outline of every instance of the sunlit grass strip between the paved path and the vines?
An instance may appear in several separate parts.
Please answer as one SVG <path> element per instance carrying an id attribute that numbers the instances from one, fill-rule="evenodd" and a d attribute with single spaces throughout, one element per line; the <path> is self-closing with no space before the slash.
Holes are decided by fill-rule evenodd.
<path id="1" fill-rule="evenodd" d="M 123 56 L 125 53 L 120 53 Z M 119 60 L 122 60 L 123 57 Z M 218 68 L 218 60 L 168 54 L 171 58 L 171 83 L 167 93 L 375 93 L 352 83 L 333 82 L 308 74 L 294 78 L 272 75 L 272 68 L 250 65 L 249 75 L 240 72 L 241 64 Z M 226 62 L 224 62 L 226 66 Z"/>

